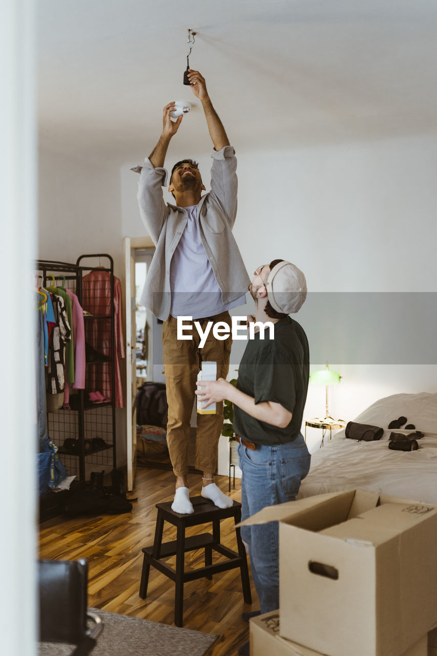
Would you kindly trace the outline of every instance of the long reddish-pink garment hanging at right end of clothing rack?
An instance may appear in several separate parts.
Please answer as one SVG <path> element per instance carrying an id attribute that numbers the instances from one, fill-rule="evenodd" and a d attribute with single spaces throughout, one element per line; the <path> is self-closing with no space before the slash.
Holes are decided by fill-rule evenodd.
<path id="1" fill-rule="evenodd" d="M 119 358 L 125 357 L 121 321 L 121 283 L 114 276 L 115 353 L 111 352 L 111 277 L 103 270 L 91 271 L 82 279 L 83 309 L 92 316 L 85 319 L 85 342 L 100 356 L 114 357 L 115 405 L 125 407 Z M 111 363 L 94 362 L 87 366 L 85 389 L 101 392 L 112 399 Z"/>

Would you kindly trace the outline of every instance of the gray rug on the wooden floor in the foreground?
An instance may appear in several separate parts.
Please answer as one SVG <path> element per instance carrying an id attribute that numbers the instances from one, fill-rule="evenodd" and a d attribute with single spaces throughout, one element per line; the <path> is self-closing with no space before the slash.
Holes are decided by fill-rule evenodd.
<path id="1" fill-rule="evenodd" d="M 90 608 L 104 628 L 92 656 L 203 656 L 218 636 Z M 39 656 L 70 656 L 72 646 L 39 643 Z"/>

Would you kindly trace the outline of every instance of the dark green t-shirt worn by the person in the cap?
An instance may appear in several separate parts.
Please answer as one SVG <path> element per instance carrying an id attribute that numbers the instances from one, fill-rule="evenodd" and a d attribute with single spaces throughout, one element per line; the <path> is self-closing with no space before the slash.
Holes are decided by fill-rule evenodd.
<path id="1" fill-rule="evenodd" d="M 248 340 L 238 369 L 237 387 L 260 401 L 280 403 L 293 413 L 286 428 L 254 419 L 234 405 L 234 430 L 241 438 L 255 444 L 284 444 L 301 431 L 302 415 L 310 375 L 308 340 L 303 328 L 291 317 L 274 324 L 274 339 L 260 333 Z"/>

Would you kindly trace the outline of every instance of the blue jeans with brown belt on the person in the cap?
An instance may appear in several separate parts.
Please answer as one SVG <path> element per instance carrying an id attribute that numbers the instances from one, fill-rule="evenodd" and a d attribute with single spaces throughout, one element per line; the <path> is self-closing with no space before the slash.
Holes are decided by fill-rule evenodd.
<path id="1" fill-rule="evenodd" d="M 310 470 L 311 456 L 301 434 L 293 442 L 259 446 L 255 451 L 238 445 L 241 477 L 241 520 L 266 506 L 294 501 L 301 480 Z M 278 522 L 242 526 L 241 538 L 249 547 L 252 578 L 261 613 L 279 608 Z"/>

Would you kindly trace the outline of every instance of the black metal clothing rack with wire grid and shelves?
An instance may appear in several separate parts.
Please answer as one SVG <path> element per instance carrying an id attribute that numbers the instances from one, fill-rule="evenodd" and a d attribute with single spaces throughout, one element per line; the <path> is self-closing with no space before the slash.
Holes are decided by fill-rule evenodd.
<path id="1" fill-rule="evenodd" d="M 98 258 L 99 266 L 85 264 L 84 260 Z M 108 265 L 100 266 L 100 259 L 106 258 Z M 95 262 L 94 262 L 95 264 Z M 58 260 L 37 260 L 35 272 L 42 276 L 43 287 L 51 281 L 54 276 L 56 281 L 65 280 L 65 286 L 69 291 L 77 295 L 79 304 L 83 308 L 83 278 L 92 271 L 105 271 L 110 276 L 110 314 L 85 315 L 85 336 L 87 328 L 93 331 L 98 324 L 100 331 L 104 330 L 106 339 L 110 340 L 110 355 L 102 359 L 85 360 L 87 375 L 91 367 L 103 367 L 110 369 L 110 381 L 112 395 L 98 405 L 94 405 L 88 399 L 89 390 L 75 390 L 72 399 L 77 398 L 73 409 L 59 409 L 47 413 L 49 424 L 49 438 L 58 446 L 58 453 L 66 466 L 69 475 L 75 475 L 79 480 L 85 480 L 85 465 L 96 465 L 98 467 L 110 466 L 116 468 L 117 453 L 115 443 L 115 313 L 114 313 L 114 261 L 107 253 L 94 253 L 81 255 L 75 264 L 60 262 Z M 98 289 L 96 289 L 96 295 Z M 72 404 L 73 405 L 73 404 Z M 78 440 L 78 449 L 64 446 L 66 438 Z M 95 438 L 100 438 L 100 445 Z M 94 443 L 93 443 L 94 440 Z M 112 451 L 112 457 L 110 455 Z"/>

